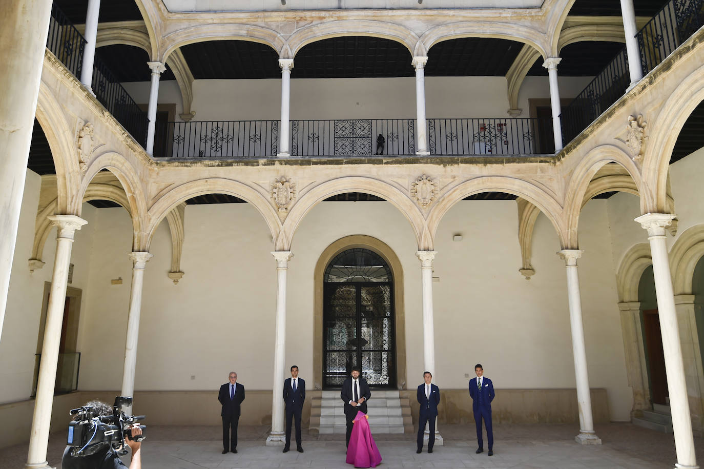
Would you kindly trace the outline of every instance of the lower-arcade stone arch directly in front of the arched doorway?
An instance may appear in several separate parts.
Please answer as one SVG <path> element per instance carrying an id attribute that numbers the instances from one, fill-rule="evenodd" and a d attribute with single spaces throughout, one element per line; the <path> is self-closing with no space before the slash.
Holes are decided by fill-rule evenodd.
<path id="1" fill-rule="evenodd" d="M 291 207 L 289 215 L 287 215 L 282 231 L 276 239 L 277 251 L 289 251 L 291 242 L 298 226 L 306 214 L 319 202 L 337 194 L 345 192 L 364 192 L 372 194 L 384 199 L 398 208 L 403 216 L 406 217 L 413 229 L 413 235 L 418 243 L 418 249 L 421 251 L 428 250 L 432 247 L 432 241 L 429 239 L 429 232 L 425 225 L 420 208 L 417 207 L 410 199 L 410 196 L 401 192 L 388 182 L 373 179 L 372 177 L 339 177 L 338 179 L 322 182 L 305 194 L 299 194 L 298 200 Z"/>

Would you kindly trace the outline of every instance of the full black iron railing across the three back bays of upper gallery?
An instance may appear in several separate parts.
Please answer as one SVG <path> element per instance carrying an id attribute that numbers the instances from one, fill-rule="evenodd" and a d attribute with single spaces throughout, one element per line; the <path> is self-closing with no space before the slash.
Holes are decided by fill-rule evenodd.
<path id="1" fill-rule="evenodd" d="M 408 156 L 417 151 L 415 119 L 291 120 L 291 156 Z M 433 155 L 551 153 L 549 120 L 428 119 Z M 279 151 L 277 120 L 169 122 L 156 125 L 154 156 L 271 158 Z"/>

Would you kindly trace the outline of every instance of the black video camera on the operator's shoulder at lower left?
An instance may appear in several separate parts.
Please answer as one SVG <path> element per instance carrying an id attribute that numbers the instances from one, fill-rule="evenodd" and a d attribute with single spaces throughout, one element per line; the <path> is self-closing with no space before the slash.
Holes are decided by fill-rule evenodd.
<path id="1" fill-rule="evenodd" d="M 90 404 L 90 403 L 89 403 Z M 71 446 L 71 456 L 88 456 L 105 449 L 107 443 L 118 454 L 127 454 L 125 448 L 125 435 L 128 439 L 141 442 L 144 433 L 132 437 L 132 428 L 139 426 L 144 432 L 144 425 L 136 425 L 144 415 L 125 415 L 122 406 L 131 406 L 131 397 L 115 397 L 112 415 L 94 416 L 93 408 L 89 406 L 73 408 L 69 415 L 75 415 L 74 420 L 68 424 L 67 444 Z"/>

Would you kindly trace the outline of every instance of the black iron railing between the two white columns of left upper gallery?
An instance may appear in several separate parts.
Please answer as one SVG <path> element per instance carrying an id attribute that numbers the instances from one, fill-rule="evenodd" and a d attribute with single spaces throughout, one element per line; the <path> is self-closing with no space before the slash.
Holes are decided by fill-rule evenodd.
<path id="1" fill-rule="evenodd" d="M 94 60 L 93 92 L 98 101 L 118 120 L 139 144 L 146 144 L 146 112 L 142 111 L 132 96 L 120 85 L 96 52 Z"/>

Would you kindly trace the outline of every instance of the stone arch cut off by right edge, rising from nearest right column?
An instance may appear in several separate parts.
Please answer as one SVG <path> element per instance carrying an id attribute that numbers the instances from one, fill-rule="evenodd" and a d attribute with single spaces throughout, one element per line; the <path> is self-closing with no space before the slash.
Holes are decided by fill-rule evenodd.
<path id="1" fill-rule="evenodd" d="M 679 133 L 692 111 L 704 100 L 704 65 L 677 86 L 654 119 L 643 156 L 642 213 L 667 213 L 667 175 Z"/>

